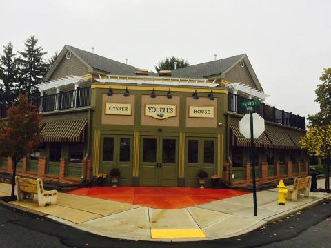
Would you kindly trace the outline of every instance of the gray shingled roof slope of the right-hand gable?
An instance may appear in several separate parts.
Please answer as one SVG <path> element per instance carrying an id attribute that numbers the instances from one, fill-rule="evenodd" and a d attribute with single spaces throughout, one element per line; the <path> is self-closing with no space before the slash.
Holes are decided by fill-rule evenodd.
<path id="1" fill-rule="evenodd" d="M 236 63 L 245 54 L 232 56 L 225 59 L 218 59 L 216 61 L 209 61 L 205 63 L 199 63 L 197 65 L 190 65 L 185 68 L 179 68 L 172 70 L 172 76 L 185 77 L 185 78 L 204 78 L 207 76 L 221 74 Z"/>

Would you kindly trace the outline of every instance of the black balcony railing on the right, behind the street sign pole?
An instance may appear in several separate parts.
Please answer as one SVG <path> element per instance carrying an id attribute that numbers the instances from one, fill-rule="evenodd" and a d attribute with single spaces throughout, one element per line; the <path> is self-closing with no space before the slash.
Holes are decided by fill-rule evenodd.
<path id="1" fill-rule="evenodd" d="M 239 114 L 248 114 L 248 110 L 240 107 L 241 103 L 251 101 L 251 99 L 240 96 L 239 94 L 228 93 L 228 111 Z M 279 123 L 281 125 L 288 125 L 290 127 L 297 127 L 305 130 L 305 117 L 295 115 L 284 110 L 279 110 L 276 107 L 270 107 L 265 103 L 255 106 L 254 111 L 257 112 L 265 121 Z"/>

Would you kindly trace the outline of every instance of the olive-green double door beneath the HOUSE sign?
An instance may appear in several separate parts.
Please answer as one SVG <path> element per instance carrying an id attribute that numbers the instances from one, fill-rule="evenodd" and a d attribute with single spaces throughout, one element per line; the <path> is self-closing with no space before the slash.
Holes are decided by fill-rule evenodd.
<path id="1" fill-rule="evenodd" d="M 217 172 L 216 138 L 186 138 L 185 184 L 197 187 L 197 173 L 200 169 L 208 173 L 208 178 Z"/>

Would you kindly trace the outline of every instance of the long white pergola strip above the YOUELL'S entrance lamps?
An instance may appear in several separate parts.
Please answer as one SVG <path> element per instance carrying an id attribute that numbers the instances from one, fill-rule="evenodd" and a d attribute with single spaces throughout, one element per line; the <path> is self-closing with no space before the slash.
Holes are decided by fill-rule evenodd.
<path id="1" fill-rule="evenodd" d="M 207 83 L 207 79 L 181 79 L 161 76 L 115 76 L 107 75 L 106 79 L 95 79 L 99 83 L 123 83 L 137 85 L 171 85 L 171 86 L 190 86 L 190 87 L 217 87 L 219 83 Z"/>

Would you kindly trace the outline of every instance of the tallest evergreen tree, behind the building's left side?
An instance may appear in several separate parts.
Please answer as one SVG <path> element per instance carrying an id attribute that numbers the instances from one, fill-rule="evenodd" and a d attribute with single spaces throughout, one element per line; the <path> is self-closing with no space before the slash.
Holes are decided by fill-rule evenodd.
<path id="1" fill-rule="evenodd" d="M 48 64 L 44 59 L 47 52 L 43 52 L 43 47 L 38 46 L 38 39 L 34 35 L 25 41 L 24 52 L 19 52 L 19 66 L 21 70 L 20 92 L 26 92 L 28 97 L 39 93 L 37 85 L 43 80 L 47 72 Z"/>

